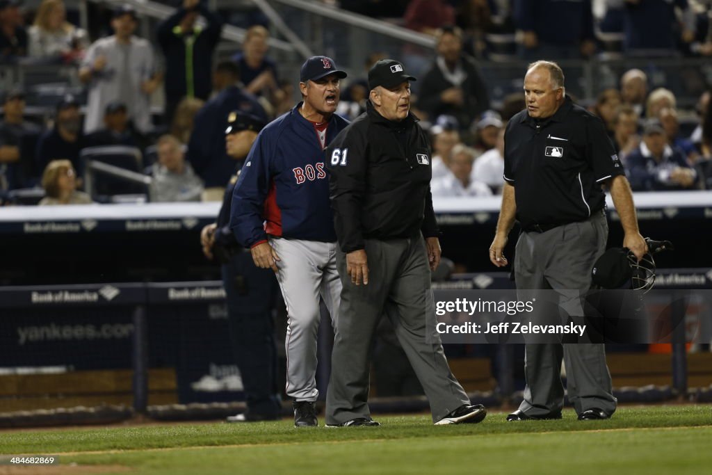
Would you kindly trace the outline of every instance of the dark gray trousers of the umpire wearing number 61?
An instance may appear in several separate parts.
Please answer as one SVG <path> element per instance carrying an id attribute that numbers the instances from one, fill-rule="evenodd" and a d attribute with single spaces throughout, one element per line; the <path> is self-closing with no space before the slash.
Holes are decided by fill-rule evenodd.
<path id="1" fill-rule="evenodd" d="M 355 286 L 346 273 L 346 256 L 337 252 L 342 281 L 339 325 L 331 355 L 326 396 L 326 423 L 369 418 L 370 353 L 381 315 L 391 320 L 396 336 L 430 402 L 437 422 L 470 401 L 447 364 L 439 338 L 426 343 L 426 317 L 434 319 L 425 242 L 412 239 L 367 239 L 369 283 Z M 434 332 L 434 322 L 432 331 Z"/>

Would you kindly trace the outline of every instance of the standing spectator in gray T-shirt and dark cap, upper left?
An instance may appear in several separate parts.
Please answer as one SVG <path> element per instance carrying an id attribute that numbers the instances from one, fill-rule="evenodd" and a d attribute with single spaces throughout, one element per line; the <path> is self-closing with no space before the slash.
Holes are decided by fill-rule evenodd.
<path id="1" fill-rule="evenodd" d="M 130 5 L 117 7 L 111 26 L 115 35 L 101 38 L 90 46 L 79 70 L 79 78 L 88 84 L 85 132 L 101 127 L 106 105 L 120 100 L 128 115 L 143 134 L 151 132 L 150 96 L 162 82 L 149 41 L 133 36 L 137 26 L 136 11 Z"/>

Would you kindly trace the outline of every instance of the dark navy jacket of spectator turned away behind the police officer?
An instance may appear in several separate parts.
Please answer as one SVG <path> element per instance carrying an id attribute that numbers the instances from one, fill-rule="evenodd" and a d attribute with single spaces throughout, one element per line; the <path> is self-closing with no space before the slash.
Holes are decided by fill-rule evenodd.
<path id="1" fill-rule="evenodd" d="M 255 96 L 237 85 L 222 90 L 198 111 L 188 141 L 188 160 L 206 188 L 225 187 L 235 168 L 235 160 L 225 150 L 225 124 L 233 110 L 256 115 L 268 122 Z"/>

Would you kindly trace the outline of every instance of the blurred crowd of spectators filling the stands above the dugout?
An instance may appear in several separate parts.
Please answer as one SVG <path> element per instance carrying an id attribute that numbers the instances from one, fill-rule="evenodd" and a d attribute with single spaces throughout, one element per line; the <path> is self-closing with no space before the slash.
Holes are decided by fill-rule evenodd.
<path id="1" fill-rule="evenodd" d="M 712 55 L 711 2 L 703 0 L 325 3 L 434 35 L 436 51 L 414 60 L 422 71 L 412 102 L 422 125 L 430 127 L 436 196 L 501 192 L 503 131 L 506 121 L 523 108 L 523 94 L 494 101 L 488 91 L 499 85 L 483 75 L 483 61 L 542 56 L 580 61 L 600 53 Z M 234 15 L 211 11 L 201 0 L 178 0 L 172 6 L 177 8 L 158 25 L 155 38 L 136 36 L 140 18 L 127 5 L 112 11 L 106 31 L 92 24 L 90 38 L 68 21 L 76 15 L 63 0 L 42 0 L 35 12 L 26 11 L 19 0 L 0 0 L 0 64 L 76 68 L 88 93 L 86 102 L 81 94 L 58 96 L 51 103 L 51 120 L 35 121 L 28 120 L 26 106 L 28 100 L 36 103 L 38 88 L 18 85 L 4 91 L 3 202 L 14 201 L 14 190 L 41 187 L 45 169 L 56 160 L 69 160 L 82 189 L 90 172 L 82 150 L 108 146 L 129 147 L 126 162 L 131 164 L 138 150 L 140 162 L 130 169 L 155 180 L 137 199 L 197 199 L 196 180 L 201 181 L 202 199 L 221 197 L 234 167 L 222 137 L 227 115 L 244 110 L 268 120 L 285 113 L 297 99 L 296 80 L 282 77 L 269 55 L 266 19 L 245 15 L 249 24 L 241 51 L 214 66 L 221 31 L 224 24 L 235 23 Z M 102 36 L 106 32 L 110 35 Z M 619 42 L 612 45 L 615 35 Z M 402 54 L 409 64 L 407 46 Z M 387 55 L 365 57 L 365 69 Z M 649 73 L 630 69 L 620 75 L 619 88 L 603 90 L 595 101 L 575 99 L 590 105 L 604 121 L 635 191 L 710 189 L 709 91 L 701 95 L 696 110 L 681 110 L 672 92 L 679 88 L 649 92 L 661 84 Z M 365 110 L 367 81 L 365 73 L 360 76 L 352 74 L 342 83 L 338 113 L 348 119 Z M 161 116 L 152 115 L 151 109 L 157 91 L 164 97 Z M 689 98 L 686 103 L 691 103 Z M 103 179 L 98 173 L 95 178 L 93 182 Z M 137 189 L 136 183 L 130 185 L 127 189 Z M 171 191 L 158 192 L 157 186 Z M 98 202 L 113 200 L 96 189 L 85 191 Z"/>

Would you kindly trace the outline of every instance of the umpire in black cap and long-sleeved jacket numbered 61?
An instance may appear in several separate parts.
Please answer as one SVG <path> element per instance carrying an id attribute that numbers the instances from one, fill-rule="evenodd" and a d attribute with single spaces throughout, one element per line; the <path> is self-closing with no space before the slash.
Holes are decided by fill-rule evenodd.
<path id="1" fill-rule="evenodd" d="M 439 340 L 426 342 L 434 315 L 429 268 L 440 261 L 430 193 L 431 152 L 410 110 L 402 63 L 375 63 L 367 110 L 327 149 L 342 283 L 326 422 L 377 426 L 367 404 L 370 343 L 386 313 L 430 402 L 435 424 L 480 422 L 452 375 Z"/>

